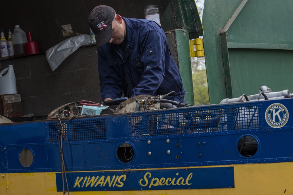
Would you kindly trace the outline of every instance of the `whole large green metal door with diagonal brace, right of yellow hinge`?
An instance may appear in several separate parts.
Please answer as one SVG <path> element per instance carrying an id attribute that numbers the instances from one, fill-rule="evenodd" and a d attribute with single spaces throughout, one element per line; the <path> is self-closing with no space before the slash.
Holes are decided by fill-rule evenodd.
<path id="1" fill-rule="evenodd" d="M 205 0 L 203 28 L 210 103 L 293 90 L 292 1 Z"/>

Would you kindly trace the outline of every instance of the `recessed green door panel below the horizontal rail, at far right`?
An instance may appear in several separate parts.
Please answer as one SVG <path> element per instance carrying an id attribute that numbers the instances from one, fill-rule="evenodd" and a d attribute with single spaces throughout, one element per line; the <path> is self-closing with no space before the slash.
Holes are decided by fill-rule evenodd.
<path id="1" fill-rule="evenodd" d="M 229 49 L 233 97 L 257 94 L 263 85 L 273 92 L 293 92 L 292 57 L 292 50 Z"/>

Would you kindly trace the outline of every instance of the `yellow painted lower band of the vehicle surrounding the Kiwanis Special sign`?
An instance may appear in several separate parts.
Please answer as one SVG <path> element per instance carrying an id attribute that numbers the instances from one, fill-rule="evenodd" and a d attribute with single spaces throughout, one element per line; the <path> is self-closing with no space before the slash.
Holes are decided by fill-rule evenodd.
<path id="1" fill-rule="evenodd" d="M 190 190 L 152 190 L 152 191 L 86 191 L 70 192 L 70 195 L 92 194 L 128 194 L 128 195 L 268 195 L 268 194 L 293 194 L 293 162 L 242 164 L 231 165 L 234 167 L 235 188 L 224 189 L 190 189 Z M 188 167 L 208 168 L 221 166 Z M 224 167 L 227 167 L 225 165 Z M 167 169 L 167 168 L 166 168 Z M 170 168 L 169 168 L 170 169 Z M 174 168 L 176 169 L 176 168 Z M 167 169 L 168 170 L 168 169 Z M 131 171 L 131 170 L 130 170 Z M 211 175 L 212 177 L 212 175 Z M 8 180 L 9 178 L 9 180 Z M 8 194 L 47 194 L 61 195 L 56 191 L 55 173 L 9 173 L 6 178 L 0 177 L 0 194 L 6 194 L 4 180 L 8 181 Z M 3 193 L 4 192 L 4 193 Z M 67 194 L 67 193 L 66 193 Z"/>

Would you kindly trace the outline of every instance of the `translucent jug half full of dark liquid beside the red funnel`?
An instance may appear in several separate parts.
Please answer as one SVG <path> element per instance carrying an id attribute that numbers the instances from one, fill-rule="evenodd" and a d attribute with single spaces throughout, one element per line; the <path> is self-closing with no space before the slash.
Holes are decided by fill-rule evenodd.
<path id="1" fill-rule="evenodd" d="M 14 56 L 24 56 L 26 54 L 25 43 L 27 42 L 28 38 L 26 38 L 26 33 L 19 25 L 16 25 L 12 34 Z"/>

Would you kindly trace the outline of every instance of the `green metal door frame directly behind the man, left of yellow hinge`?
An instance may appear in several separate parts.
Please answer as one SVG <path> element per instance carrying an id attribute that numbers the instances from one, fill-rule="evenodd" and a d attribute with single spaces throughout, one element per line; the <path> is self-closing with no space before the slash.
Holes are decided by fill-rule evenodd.
<path id="1" fill-rule="evenodd" d="M 174 47 L 177 50 L 178 68 L 186 92 L 185 99 L 189 104 L 194 104 L 189 39 L 203 35 L 195 1 L 171 0 L 161 17 L 161 26 L 165 32 L 175 33 Z"/>

